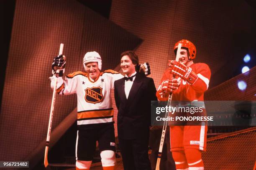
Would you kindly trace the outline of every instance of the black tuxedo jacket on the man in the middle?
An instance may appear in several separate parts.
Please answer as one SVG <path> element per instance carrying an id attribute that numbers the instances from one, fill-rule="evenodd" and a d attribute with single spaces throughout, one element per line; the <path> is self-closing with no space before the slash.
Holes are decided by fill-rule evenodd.
<path id="1" fill-rule="evenodd" d="M 115 104 L 118 108 L 118 136 L 138 139 L 148 136 L 151 124 L 151 101 L 157 101 L 154 80 L 139 73 L 125 96 L 125 79 L 115 81 Z"/>

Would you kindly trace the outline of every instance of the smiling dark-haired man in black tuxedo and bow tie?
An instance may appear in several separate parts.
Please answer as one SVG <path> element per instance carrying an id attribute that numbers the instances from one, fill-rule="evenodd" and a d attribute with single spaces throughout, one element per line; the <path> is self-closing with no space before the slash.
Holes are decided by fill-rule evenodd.
<path id="1" fill-rule="evenodd" d="M 148 159 L 151 101 L 156 101 L 154 80 L 136 72 L 138 56 L 121 54 L 123 79 L 115 81 L 118 108 L 118 140 L 125 170 L 151 170 Z"/>

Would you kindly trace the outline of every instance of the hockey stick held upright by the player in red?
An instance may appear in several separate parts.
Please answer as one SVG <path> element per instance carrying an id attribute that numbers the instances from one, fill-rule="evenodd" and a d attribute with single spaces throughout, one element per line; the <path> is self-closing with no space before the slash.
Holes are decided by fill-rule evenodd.
<path id="1" fill-rule="evenodd" d="M 176 54 L 176 61 L 179 61 L 179 54 L 180 54 L 181 46 L 182 46 L 182 44 L 179 43 L 177 54 Z M 169 108 L 171 101 L 172 101 L 172 94 L 169 94 L 167 108 Z M 165 112 L 165 118 L 167 118 L 168 116 L 169 116 L 169 111 Z M 159 170 L 159 168 L 160 168 L 160 161 L 161 161 L 161 155 L 162 155 L 162 150 L 163 150 L 163 146 L 164 146 L 166 127 L 167 127 L 167 121 L 164 121 L 162 135 L 161 135 L 161 141 L 160 141 L 160 146 L 159 146 L 159 151 L 158 151 L 158 157 L 157 157 L 157 162 L 156 162 L 156 170 Z"/>

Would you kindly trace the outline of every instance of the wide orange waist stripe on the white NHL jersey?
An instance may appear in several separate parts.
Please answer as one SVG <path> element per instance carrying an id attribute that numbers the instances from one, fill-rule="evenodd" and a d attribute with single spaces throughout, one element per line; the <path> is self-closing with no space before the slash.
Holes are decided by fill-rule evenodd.
<path id="1" fill-rule="evenodd" d="M 99 110 L 99 111 L 89 111 L 77 113 L 77 119 L 93 118 L 93 117 L 107 117 L 113 116 L 114 110 Z"/>

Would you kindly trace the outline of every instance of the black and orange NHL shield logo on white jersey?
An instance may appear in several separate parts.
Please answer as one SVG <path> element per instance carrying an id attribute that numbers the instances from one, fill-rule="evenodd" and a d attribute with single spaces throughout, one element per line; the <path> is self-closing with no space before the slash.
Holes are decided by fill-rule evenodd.
<path id="1" fill-rule="evenodd" d="M 103 100 L 102 88 L 100 86 L 87 88 L 84 91 L 85 91 L 84 99 L 88 103 L 95 104 L 95 103 L 100 103 Z"/>

